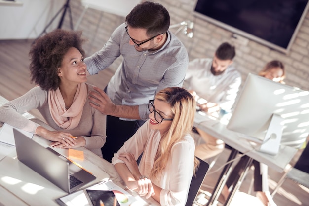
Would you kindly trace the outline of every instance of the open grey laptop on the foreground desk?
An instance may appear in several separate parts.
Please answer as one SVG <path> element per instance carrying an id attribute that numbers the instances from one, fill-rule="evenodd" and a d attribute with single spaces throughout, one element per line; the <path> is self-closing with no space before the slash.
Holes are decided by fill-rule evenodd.
<path id="1" fill-rule="evenodd" d="M 61 156 L 52 148 L 45 148 L 13 128 L 19 161 L 38 172 L 67 193 L 76 191 L 96 177 Z"/>

